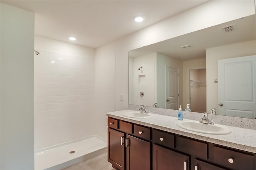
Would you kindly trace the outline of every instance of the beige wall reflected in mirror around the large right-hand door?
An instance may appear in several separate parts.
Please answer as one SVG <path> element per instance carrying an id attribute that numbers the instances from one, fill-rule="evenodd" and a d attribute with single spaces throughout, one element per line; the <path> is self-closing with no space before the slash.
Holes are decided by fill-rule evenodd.
<path id="1" fill-rule="evenodd" d="M 207 113 L 216 108 L 218 114 L 218 83 L 214 83 L 218 79 L 218 59 L 255 55 L 255 47 L 256 41 L 248 41 L 206 49 Z"/>

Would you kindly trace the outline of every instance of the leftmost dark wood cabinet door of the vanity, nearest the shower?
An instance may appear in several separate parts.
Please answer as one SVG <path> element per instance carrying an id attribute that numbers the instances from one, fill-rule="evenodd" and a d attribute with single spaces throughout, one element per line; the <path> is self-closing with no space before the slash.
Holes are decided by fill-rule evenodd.
<path id="1" fill-rule="evenodd" d="M 108 162 L 124 170 L 124 133 L 108 128 Z"/>

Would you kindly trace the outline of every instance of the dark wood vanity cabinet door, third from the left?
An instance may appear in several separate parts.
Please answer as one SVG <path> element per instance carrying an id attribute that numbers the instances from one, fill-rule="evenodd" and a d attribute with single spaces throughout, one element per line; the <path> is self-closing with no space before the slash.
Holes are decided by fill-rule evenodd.
<path id="1" fill-rule="evenodd" d="M 153 144 L 153 170 L 189 170 L 189 156 Z"/>

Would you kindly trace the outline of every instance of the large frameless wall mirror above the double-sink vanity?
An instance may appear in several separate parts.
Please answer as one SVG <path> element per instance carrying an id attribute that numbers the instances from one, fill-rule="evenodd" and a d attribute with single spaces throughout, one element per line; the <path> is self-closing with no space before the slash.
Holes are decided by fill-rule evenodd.
<path id="1" fill-rule="evenodd" d="M 129 51 L 129 104 L 256 118 L 255 15 Z M 157 104 L 155 104 L 157 103 Z"/>

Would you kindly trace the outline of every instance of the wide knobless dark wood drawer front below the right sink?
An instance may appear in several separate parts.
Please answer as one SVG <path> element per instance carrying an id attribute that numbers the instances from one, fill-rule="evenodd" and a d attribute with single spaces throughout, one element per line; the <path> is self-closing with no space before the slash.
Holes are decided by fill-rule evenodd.
<path id="1" fill-rule="evenodd" d="M 207 160 L 208 158 L 208 143 L 194 140 L 191 138 L 186 138 L 183 136 L 178 136 L 176 138 L 176 149 L 196 156 L 197 158 L 201 158 Z"/>

